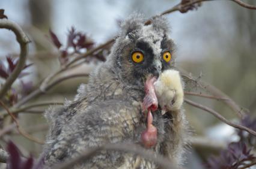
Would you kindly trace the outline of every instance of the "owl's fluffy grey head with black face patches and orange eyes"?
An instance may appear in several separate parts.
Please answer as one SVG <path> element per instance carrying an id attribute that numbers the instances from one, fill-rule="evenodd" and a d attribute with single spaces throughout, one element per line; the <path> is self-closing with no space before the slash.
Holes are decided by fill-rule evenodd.
<path id="1" fill-rule="evenodd" d="M 174 43 L 169 38 L 169 26 L 164 17 L 154 17 L 144 25 L 140 14 L 133 14 L 121 24 L 121 32 L 111 49 L 108 61 L 118 79 L 126 85 L 142 88 L 145 79 L 174 64 Z"/>

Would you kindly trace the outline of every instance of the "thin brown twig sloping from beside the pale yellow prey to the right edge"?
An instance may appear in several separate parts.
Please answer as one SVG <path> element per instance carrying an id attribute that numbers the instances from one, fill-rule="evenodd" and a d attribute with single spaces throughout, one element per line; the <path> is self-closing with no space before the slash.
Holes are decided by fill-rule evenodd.
<path id="1" fill-rule="evenodd" d="M 225 117 L 221 116 L 221 114 L 219 114 L 217 111 L 212 110 L 212 108 L 209 108 L 209 107 L 206 107 L 204 105 L 198 104 L 197 102 L 194 102 L 194 101 L 190 101 L 189 99 L 184 99 L 184 102 L 186 102 L 187 104 L 193 105 L 194 107 L 200 108 L 204 111 L 207 111 L 207 112 L 213 114 L 213 116 L 217 117 L 222 122 L 227 123 L 227 125 L 233 126 L 234 128 L 237 128 L 237 129 L 242 129 L 244 131 L 247 131 L 247 132 L 249 132 L 250 134 L 252 134 L 256 137 L 256 132 L 253 131 L 252 129 L 249 129 L 246 126 L 237 125 L 235 123 L 232 123 L 232 122 L 228 121 L 227 119 L 225 119 Z"/>

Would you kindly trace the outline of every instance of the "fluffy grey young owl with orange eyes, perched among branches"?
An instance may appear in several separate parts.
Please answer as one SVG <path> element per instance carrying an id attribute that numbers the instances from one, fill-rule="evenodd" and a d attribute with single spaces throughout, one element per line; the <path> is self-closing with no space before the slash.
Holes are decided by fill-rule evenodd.
<path id="1" fill-rule="evenodd" d="M 179 74 L 174 73 L 173 83 L 178 85 L 172 85 L 173 96 L 165 99 L 152 96 L 154 83 L 159 86 L 158 77 L 174 69 L 175 46 L 169 37 L 169 24 L 162 16 L 151 19 L 150 25 L 144 22 L 141 14 L 125 20 L 106 62 L 95 68 L 86 85 L 79 87 L 75 99 L 61 108 L 46 111 L 50 129 L 41 154 L 46 168 L 69 161 L 91 147 L 127 142 L 151 149 L 177 165 L 183 163 L 189 132 L 181 108 L 183 95 L 178 94 L 183 92 Z M 160 102 L 147 106 L 152 98 Z M 161 100 L 169 103 L 165 113 L 161 113 Z M 150 109 L 151 105 L 154 108 Z M 145 113 L 147 109 L 152 110 L 150 115 Z M 144 143 L 150 141 L 148 126 L 157 132 L 149 145 Z M 132 153 L 102 151 L 73 168 L 160 167 Z"/>

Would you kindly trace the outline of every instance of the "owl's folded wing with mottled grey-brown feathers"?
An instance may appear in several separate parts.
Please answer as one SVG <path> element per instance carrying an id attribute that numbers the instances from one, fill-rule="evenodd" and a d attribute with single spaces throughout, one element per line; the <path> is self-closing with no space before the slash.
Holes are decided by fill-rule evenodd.
<path id="1" fill-rule="evenodd" d="M 136 141 L 136 127 L 141 119 L 139 102 L 108 100 L 88 105 L 79 110 L 62 127 L 61 134 L 46 152 L 46 164 L 56 164 L 74 158 L 89 147 L 105 143 Z M 90 161 L 81 164 L 91 168 L 117 168 L 124 156 L 120 152 L 101 152 Z"/>

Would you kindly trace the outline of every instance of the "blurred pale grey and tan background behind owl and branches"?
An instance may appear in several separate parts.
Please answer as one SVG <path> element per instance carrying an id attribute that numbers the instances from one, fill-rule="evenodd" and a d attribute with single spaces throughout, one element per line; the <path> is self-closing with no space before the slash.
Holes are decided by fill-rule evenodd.
<path id="1" fill-rule="evenodd" d="M 31 39 L 28 63 L 33 63 L 26 71 L 30 74 L 23 82 L 31 82 L 36 88 L 50 73 L 58 70 L 60 53 L 50 40 L 49 29 L 56 34 L 61 43 L 67 41 L 69 30 L 85 32 L 97 46 L 118 34 L 118 23 L 133 12 L 146 18 L 168 10 L 180 1 L 67 1 L 67 0 L 1 0 L 0 8 L 5 10 L 9 20 L 18 23 Z M 256 1 L 245 1 L 256 5 Z M 256 11 L 240 7 L 231 1 L 204 2 L 198 10 L 181 14 L 175 12 L 166 16 L 171 26 L 170 36 L 177 44 L 177 67 L 200 77 L 218 87 L 246 112 L 256 114 Z M 11 31 L 0 29 L 0 59 L 6 56 L 19 56 L 19 44 Z M 67 72 L 89 73 L 94 64 L 84 64 Z M 73 99 L 76 89 L 87 78 L 67 80 L 32 102 Z M 19 90 L 19 82 L 14 83 Z M 197 91 L 187 86 L 186 90 Z M 212 107 L 229 120 L 236 121 L 233 111 L 221 101 L 187 96 L 200 104 Z M 32 135 L 44 139 L 47 123 L 40 113 L 47 107 L 37 108 L 34 113 L 20 114 L 20 125 Z M 195 138 L 215 140 L 216 147 L 208 149 L 202 145 L 192 146 L 187 154 L 187 168 L 203 168 L 207 156 L 216 153 L 230 141 L 236 141 L 235 130 L 206 113 L 184 104 L 186 114 L 194 131 Z M 36 126 L 36 127 L 35 127 Z M 1 137 L 0 144 L 11 139 L 23 153 L 38 156 L 42 146 L 17 135 Z M 210 143 L 209 143 L 210 144 Z M 1 166 L 1 165 L 0 165 Z"/>

